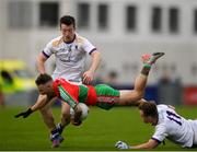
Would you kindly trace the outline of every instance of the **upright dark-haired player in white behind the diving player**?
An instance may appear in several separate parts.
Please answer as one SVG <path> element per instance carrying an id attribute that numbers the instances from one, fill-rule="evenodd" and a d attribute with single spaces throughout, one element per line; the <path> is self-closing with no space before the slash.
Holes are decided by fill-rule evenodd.
<path id="1" fill-rule="evenodd" d="M 37 58 L 37 69 L 39 73 L 45 73 L 45 61 L 51 56 L 56 57 L 56 69 L 53 78 L 63 78 L 74 83 L 89 84 L 94 77 L 101 61 L 101 54 L 97 49 L 84 37 L 76 33 L 76 21 L 73 16 L 65 15 L 60 19 L 61 36 L 50 40 Z M 89 54 L 92 57 L 92 62 L 88 71 L 84 71 L 85 57 Z M 37 104 L 45 103 L 46 96 L 39 95 Z M 53 98 L 56 101 L 57 98 Z M 49 128 L 51 135 L 53 147 L 59 145 L 59 139 L 56 139 L 54 130 L 58 128 L 59 133 L 70 122 L 70 106 L 67 104 L 61 105 L 61 122 L 57 126 L 54 122 L 54 116 L 50 109 L 53 102 L 48 102 L 40 109 L 43 119 Z M 36 106 L 36 104 L 35 104 Z M 32 107 L 34 110 L 34 107 Z M 62 141 L 62 139 L 60 140 Z"/>

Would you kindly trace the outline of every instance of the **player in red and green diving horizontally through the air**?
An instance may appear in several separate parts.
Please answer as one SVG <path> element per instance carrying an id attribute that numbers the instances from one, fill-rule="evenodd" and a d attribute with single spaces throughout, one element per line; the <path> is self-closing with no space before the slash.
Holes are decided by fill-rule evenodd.
<path id="1" fill-rule="evenodd" d="M 80 114 L 80 108 L 78 108 L 78 103 L 85 103 L 86 105 L 96 105 L 104 109 L 109 109 L 114 105 L 129 106 L 138 105 L 140 98 L 143 97 L 144 89 L 148 80 L 148 74 L 151 66 L 162 57 L 163 52 L 155 52 L 149 58 L 143 58 L 143 67 L 141 73 L 137 77 L 134 90 L 114 90 L 108 85 L 99 84 L 96 86 L 83 85 L 83 84 L 72 84 L 65 79 L 56 79 L 53 81 L 51 77 L 48 74 L 40 74 L 36 79 L 36 84 L 38 91 L 42 95 L 47 95 L 48 100 L 44 101 L 39 105 L 34 105 L 34 109 L 28 108 L 28 110 L 18 114 L 15 117 L 27 117 L 34 110 L 39 109 L 42 106 L 47 104 L 50 98 L 58 96 L 65 103 L 68 103 L 77 114 Z M 77 115 L 79 116 L 79 115 Z M 74 125 L 80 125 L 81 121 L 79 117 L 74 118 Z M 63 128 L 57 128 L 54 130 L 54 135 L 57 137 L 62 131 Z"/>

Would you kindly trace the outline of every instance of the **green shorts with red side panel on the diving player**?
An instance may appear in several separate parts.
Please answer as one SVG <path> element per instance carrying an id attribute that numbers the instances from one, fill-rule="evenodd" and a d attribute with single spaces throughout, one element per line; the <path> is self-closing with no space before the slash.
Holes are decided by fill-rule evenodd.
<path id="1" fill-rule="evenodd" d="M 106 84 L 99 84 L 94 86 L 96 91 L 96 106 L 111 109 L 117 102 L 119 102 L 119 91 Z"/>

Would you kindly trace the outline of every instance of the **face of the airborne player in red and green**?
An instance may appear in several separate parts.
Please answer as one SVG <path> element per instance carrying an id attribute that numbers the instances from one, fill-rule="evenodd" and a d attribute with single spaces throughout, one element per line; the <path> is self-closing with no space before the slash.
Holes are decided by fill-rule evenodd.
<path id="1" fill-rule="evenodd" d="M 39 94 L 42 95 L 48 95 L 48 96 L 55 95 L 53 81 L 49 81 L 45 84 L 39 84 L 37 89 L 38 89 Z"/>

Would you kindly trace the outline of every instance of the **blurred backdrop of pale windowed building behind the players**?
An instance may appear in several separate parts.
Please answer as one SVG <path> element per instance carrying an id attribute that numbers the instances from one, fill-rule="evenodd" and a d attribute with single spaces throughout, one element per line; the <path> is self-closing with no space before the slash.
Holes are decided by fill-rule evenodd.
<path id="1" fill-rule="evenodd" d="M 36 97 L 36 57 L 60 35 L 59 17 L 102 52 L 94 83 L 131 89 L 143 54 L 164 51 L 152 68 L 146 98 L 197 105 L 197 0 L 0 0 L 0 105 Z M 46 62 L 47 72 L 55 60 Z"/>

